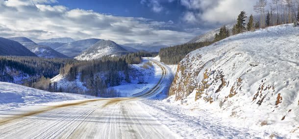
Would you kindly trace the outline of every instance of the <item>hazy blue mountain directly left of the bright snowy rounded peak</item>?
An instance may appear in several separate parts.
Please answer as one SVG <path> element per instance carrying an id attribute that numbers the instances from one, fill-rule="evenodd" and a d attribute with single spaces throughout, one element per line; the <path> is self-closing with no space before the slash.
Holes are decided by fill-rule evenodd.
<path id="1" fill-rule="evenodd" d="M 64 44 L 55 50 L 68 56 L 71 58 L 74 58 L 78 56 L 80 53 L 85 51 L 87 48 L 89 48 L 91 45 L 98 42 L 100 39 L 85 39 L 85 40 L 77 40 L 74 42 L 70 42 L 67 44 Z"/>

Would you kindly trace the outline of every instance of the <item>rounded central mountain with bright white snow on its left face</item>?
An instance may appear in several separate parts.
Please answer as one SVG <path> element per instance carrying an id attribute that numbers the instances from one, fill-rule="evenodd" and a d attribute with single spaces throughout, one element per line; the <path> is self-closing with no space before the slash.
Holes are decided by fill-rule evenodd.
<path id="1" fill-rule="evenodd" d="M 105 55 L 122 55 L 127 54 L 127 51 L 122 46 L 116 44 L 112 40 L 99 40 L 87 50 L 75 57 L 76 60 L 95 60 Z"/>

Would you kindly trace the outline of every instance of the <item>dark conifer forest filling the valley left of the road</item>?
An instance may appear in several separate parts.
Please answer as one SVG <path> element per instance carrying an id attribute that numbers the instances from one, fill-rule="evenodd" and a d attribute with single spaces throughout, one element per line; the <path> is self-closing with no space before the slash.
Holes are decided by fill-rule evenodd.
<path id="1" fill-rule="evenodd" d="M 0 81 L 13 82 L 50 92 L 82 93 L 81 86 L 61 85 L 50 79 L 60 74 L 68 81 L 80 81 L 87 88 L 84 94 L 113 97 L 108 87 L 130 82 L 130 64 L 139 64 L 142 57 L 158 53 L 136 52 L 121 57 L 104 56 L 98 60 L 44 59 L 35 57 L 0 57 Z M 115 95 L 114 95 L 115 96 Z"/>

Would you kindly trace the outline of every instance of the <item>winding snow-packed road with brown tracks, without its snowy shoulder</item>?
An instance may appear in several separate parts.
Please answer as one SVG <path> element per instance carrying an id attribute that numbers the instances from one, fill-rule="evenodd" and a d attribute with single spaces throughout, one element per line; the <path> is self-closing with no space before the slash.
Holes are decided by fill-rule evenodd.
<path id="1" fill-rule="evenodd" d="M 133 98 L 88 99 L 0 113 L 1 139 L 175 139 L 138 101 L 161 92 L 172 74 L 163 63 L 157 84 Z M 5 116 L 6 115 L 6 116 Z"/>

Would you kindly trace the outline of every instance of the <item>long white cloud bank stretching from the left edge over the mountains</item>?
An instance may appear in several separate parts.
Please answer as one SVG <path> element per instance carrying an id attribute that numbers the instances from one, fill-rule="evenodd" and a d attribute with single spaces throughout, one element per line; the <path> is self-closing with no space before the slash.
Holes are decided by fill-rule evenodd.
<path id="1" fill-rule="evenodd" d="M 0 0 L 1 37 L 76 40 L 99 38 L 117 43 L 174 45 L 196 34 L 170 30 L 173 21 L 116 17 L 92 10 L 69 9 L 56 0 Z M 55 3 L 55 4 L 49 4 Z M 155 9 L 159 11 L 159 9 Z"/>

